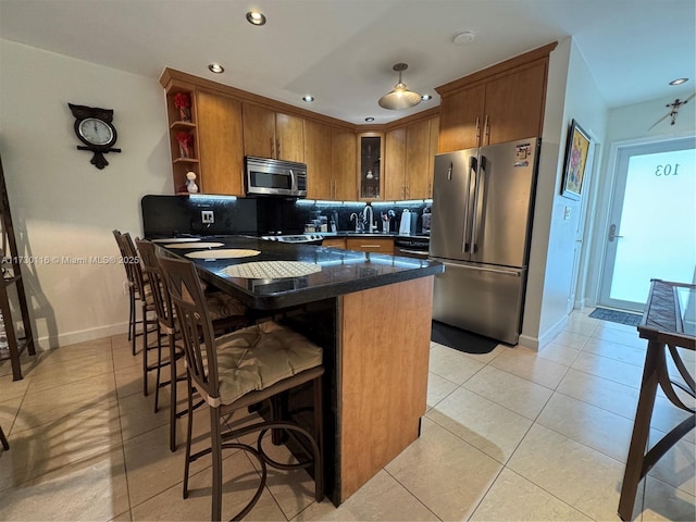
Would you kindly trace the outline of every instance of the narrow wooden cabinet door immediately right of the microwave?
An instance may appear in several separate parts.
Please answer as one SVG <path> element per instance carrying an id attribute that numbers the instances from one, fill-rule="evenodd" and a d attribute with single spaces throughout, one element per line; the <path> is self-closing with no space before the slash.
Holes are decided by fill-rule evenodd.
<path id="1" fill-rule="evenodd" d="M 307 163 L 307 197 L 332 199 L 332 127 L 304 120 L 304 163 Z"/>

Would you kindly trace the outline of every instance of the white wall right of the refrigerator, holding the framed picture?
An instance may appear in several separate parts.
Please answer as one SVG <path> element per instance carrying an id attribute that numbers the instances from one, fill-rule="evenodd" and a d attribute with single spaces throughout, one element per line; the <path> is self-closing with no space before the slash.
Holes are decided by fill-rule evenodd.
<path id="1" fill-rule="evenodd" d="M 544 134 L 532 233 L 527 295 L 520 343 L 543 348 L 568 318 L 573 287 L 575 236 L 582 206 L 591 197 L 594 172 L 585 179 L 583 198 L 560 195 L 566 138 L 575 119 L 596 144 L 605 140 L 607 108 L 587 64 L 572 38 L 550 55 Z M 597 162 L 595 163 L 595 172 Z M 566 208 L 570 219 L 564 220 Z"/>

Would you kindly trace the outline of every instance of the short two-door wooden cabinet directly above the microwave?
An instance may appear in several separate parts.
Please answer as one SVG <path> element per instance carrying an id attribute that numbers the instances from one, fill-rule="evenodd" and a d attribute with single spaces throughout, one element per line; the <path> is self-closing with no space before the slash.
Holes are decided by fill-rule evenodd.
<path id="1" fill-rule="evenodd" d="M 301 117 L 245 102 L 243 121 L 245 156 L 304 162 L 304 127 Z"/>

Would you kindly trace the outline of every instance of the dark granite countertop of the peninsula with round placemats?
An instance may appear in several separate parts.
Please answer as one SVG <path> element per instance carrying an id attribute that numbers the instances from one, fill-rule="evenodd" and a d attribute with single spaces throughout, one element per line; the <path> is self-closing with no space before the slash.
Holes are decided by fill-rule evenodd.
<path id="1" fill-rule="evenodd" d="M 219 248 L 253 249 L 261 252 L 251 258 L 192 260 L 202 279 L 229 293 L 246 306 L 260 310 L 319 301 L 444 272 L 444 265 L 435 261 L 384 253 L 279 244 L 246 236 L 207 236 L 203 240 L 224 244 Z M 160 244 L 163 245 L 165 244 Z M 190 248 L 167 249 L 179 257 L 194 250 L 201 250 L 196 247 L 196 243 L 191 243 Z M 260 261 L 299 261 L 318 264 L 321 271 L 300 277 L 275 279 L 248 279 L 223 273 L 223 269 L 229 265 Z"/>

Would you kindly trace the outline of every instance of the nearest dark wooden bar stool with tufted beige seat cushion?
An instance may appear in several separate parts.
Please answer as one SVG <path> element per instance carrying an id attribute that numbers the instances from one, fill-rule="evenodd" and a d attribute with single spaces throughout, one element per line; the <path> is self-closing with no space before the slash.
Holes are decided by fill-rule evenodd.
<path id="1" fill-rule="evenodd" d="M 188 389 L 188 426 L 184 498 L 188 496 L 189 465 L 200 457 L 212 453 L 212 520 L 222 515 L 222 449 L 238 448 L 259 461 L 261 480 L 253 498 L 234 517 L 238 520 L 251 511 L 266 481 L 266 464 L 279 469 L 311 468 L 314 472 L 314 496 L 324 498 L 322 462 L 322 389 L 324 373 L 322 349 L 300 334 L 273 321 L 256 324 L 215 338 L 206 299 L 196 268 L 188 261 L 160 258 L 160 265 L 179 324 L 189 383 L 196 386 L 210 412 L 211 446 L 191 455 L 192 390 Z M 300 385 L 311 383 L 314 394 L 313 430 L 310 433 L 297 423 L 279 419 L 277 408 L 271 407 L 271 420 L 256 422 L 223 433 L 221 421 L 233 412 L 251 405 L 277 398 Z M 273 405 L 273 402 L 271 402 Z M 306 458 L 297 464 L 283 464 L 271 459 L 262 448 L 264 435 L 283 431 L 298 446 Z M 256 447 L 238 437 L 259 432 Z"/>

